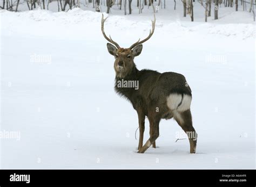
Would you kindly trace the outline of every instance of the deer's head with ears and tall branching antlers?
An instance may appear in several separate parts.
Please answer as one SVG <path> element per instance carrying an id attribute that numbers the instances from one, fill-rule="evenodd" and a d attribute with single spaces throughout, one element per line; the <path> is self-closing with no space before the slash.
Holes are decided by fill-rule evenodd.
<path id="1" fill-rule="evenodd" d="M 129 75 L 135 66 L 134 64 L 134 57 L 138 56 L 142 53 L 142 44 L 149 40 L 154 33 L 154 26 L 156 24 L 156 17 L 154 16 L 154 20 L 152 20 L 152 31 L 150 30 L 150 34 L 147 38 L 140 41 L 140 39 L 131 45 L 129 48 L 122 48 L 120 47 L 117 42 L 113 41 L 111 37 L 109 38 L 106 36 L 104 32 L 104 22 L 107 18 L 104 19 L 102 15 L 102 34 L 104 35 L 105 39 L 110 43 L 107 43 L 107 50 L 111 55 L 114 56 L 114 70 L 116 71 L 116 76 L 119 78 L 124 78 L 126 75 Z"/>

